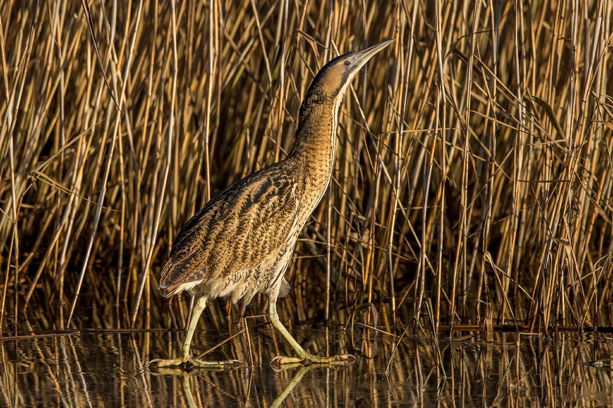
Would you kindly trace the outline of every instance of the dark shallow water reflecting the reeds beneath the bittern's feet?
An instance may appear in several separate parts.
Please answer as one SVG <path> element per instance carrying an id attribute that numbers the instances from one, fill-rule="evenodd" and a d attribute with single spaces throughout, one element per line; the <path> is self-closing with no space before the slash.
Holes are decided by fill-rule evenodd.
<path id="1" fill-rule="evenodd" d="M 239 330 L 236 330 L 237 332 Z M 493 343 L 439 342 L 373 330 L 297 325 L 311 352 L 354 352 L 351 365 L 294 366 L 270 360 L 289 347 L 269 325 L 249 330 L 207 358 L 251 365 L 227 371 L 166 370 L 148 360 L 175 355 L 181 332 L 75 332 L 0 341 L 4 406 L 610 406 L 613 339 L 559 334 L 553 341 L 497 333 Z M 194 354 L 234 333 L 200 330 Z M 250 346 L 250 347 L 249 347 Z M 355 347 L 352 349 L 352 347 Z M 437 357 L 440 356 L 440 357 Z M 384 374 L 389 364 L 389 373 Z"/>

